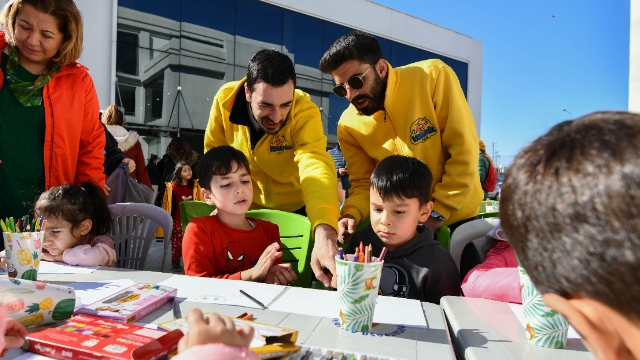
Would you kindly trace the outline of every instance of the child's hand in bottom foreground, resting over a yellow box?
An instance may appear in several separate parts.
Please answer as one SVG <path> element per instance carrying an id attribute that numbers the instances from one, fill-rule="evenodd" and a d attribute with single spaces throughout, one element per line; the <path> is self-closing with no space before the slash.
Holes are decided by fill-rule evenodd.
<path id="1" fill-rule="evenodd" d="M 232 346 L 249 347 L 253 339 L 253 328 L 243 325 L 236 329 L 233 320 L 218 314 L 203 317 L 199 309 L 191 309 L 187 314 L 189 332 L 180 339 L 178 352 L 182 353 L 192 346 L 210 343 L 222 343 Z"/>

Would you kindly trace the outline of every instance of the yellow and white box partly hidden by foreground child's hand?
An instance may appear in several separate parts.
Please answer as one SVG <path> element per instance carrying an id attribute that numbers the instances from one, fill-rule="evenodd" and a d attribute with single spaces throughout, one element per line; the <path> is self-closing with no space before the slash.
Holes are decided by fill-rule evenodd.
<path id="1" fill-rule="evenodd" d="M 237 318 L 231 319 L 236 326 L 249 325 L 253 327 L 254 335 L 249 350 L 256 353 L 260 359 L 280 358 L 300 351 L 300 346 L 296 345 L 297 330 Z M 189 331 L 186 319 L 167 321 L 159 324 L 158 327 L 168 331 L 182 330 L 185 334 Z"/>

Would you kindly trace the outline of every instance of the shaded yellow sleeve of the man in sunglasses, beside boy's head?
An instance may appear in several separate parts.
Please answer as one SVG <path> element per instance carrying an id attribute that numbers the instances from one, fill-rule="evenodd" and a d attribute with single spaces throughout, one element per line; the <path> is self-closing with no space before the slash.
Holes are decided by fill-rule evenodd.
<path id="1" fill-rule="evenodd" d="M 348 111 L 348 110 L 347 110 Z M 346 112 L 340 120 L 349 116 Z M 349 172 L 349 197 L 342 206 L 342 215 L 351 215 L 359 224 L 363 219 L 369 217 L 369 179 L 376 167 L 376 162 L 371 158 L 360 144 L 349 133 L 349 127 L 338 122 L 338 142 L 342 156 L 347 163 Z"/>

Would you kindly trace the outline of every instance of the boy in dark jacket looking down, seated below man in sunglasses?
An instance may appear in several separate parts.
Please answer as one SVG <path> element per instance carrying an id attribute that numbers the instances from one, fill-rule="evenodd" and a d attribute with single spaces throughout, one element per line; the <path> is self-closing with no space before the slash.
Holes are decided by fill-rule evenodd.
<path id="1" fill-rule="evenodd" d="M 394 155 L 382 160 L 371 175 L 371 223 L 354 234 L 347 246 L 372 246 L 373 256 L 387 248 L 380 277 L 380 293 L 440 303 L 446 295 L 460 295 L 460 274 L 451 254 L 433 240 L 425 222 L 433 202 L 429 197 L 431 171 L 422 161 Z"/>

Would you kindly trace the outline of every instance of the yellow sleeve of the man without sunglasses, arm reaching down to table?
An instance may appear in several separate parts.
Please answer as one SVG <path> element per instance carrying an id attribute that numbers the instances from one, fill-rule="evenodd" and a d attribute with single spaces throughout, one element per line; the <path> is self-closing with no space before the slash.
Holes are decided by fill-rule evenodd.
<path id="1" fill-rule="evenodd" d="M 292 129 L 294 161 L 298 164 L 302 197 L 311 229 L 327 224 L 338 231 L 338 183 L 333 158 L 327 152 L 320 110 L 304 94 L 296 100 Z"/>

